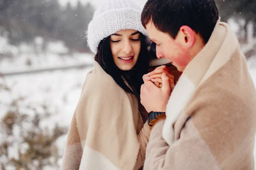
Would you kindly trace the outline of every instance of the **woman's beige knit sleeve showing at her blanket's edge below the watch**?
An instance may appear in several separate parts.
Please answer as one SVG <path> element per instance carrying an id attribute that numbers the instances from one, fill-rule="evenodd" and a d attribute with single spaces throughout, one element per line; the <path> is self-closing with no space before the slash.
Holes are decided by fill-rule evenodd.
<path id="1" fill-rule="evenodd" d="M 137 135 L 138 141 L 140 142 L 140 150 L 137 155 L 137 162 L 135 164 L 134 170 L 138 170 L 145 161 L 146 147 L 148 144 L 148 139 L 150 136 L 150 126 L 148 122 L 145 122 L 143 128 L 140 130 L 140 133 Z"/>

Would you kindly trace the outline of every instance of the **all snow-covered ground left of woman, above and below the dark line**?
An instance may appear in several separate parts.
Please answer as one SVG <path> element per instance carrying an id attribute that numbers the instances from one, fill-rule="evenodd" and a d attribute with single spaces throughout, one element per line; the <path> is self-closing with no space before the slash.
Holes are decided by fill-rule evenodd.
<path id="1" fill-rule="evenodd" d="M 62 42 L 49 43 L 44 52 L 38 45 L 41 38 L 37 38 L 35 42 L 34 45 L 37 46 L 22 44 L 16 47 L 9 45 L 6 38 L 0 37 L 0 54 L 5 56 L 0 57 L 0 72 L 9 73 L 81 64 L 92 65 L 93 63 L 92 54 L 69 53 Z M 19 149 L 27 150 L 28 144 L 23 143 L 21 138 L 23 134 L 20 130 L 33 131 L 35 126 L 31 120 L 36 114 L 41 115 L 39 127 L 44 130 L 44 133 L 52 134 L 56 124 L 59 127 L 69 127 L 79 100 L 81 87 L 87 72 L 91 69 L 92 66 L 89 66 L 0 77 L 0 126 L 6 113 L 16 108 L 19 114 L 29 116 L 29 121 L 13 127 L 12 135 L 6 137 L 6 133 L 3 132 L 4 128 L 0 128 L 0 145 L 3 142 L 9 142 L 8 157 L 1 155 L 3 151 L 0 148 L 0 167 L 12 158 L 19 159 Z M 4 90 L 5 86 L 10 90 Z M 16 99 L 20 100 L 15 102 L 15 107 L 13 107 Z M 67 134 L 64 134 L 55 141 L 55 145 L 58 146 L 58 158 L 60 158 L 58 166 L 61 164 L 66 138 Z M 43 169 L 50 170 L 50 168 L 56 169 L 51 165 Z M 7 170 L 12 169 L 14 167 L 7 167 Z"/>

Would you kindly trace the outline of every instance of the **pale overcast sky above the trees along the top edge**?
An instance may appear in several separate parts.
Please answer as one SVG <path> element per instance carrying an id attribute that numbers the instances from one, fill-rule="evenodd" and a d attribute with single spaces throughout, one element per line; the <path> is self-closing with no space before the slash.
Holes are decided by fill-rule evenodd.
<path id="1" fill-rule="evenodd" d="M 77 1 L 78 0 L 59 0 L 60 4 L 64 5 L 64 6 L 67 4 L 67 2 L 70 2 L 71 5 L 76 6 Z M 98 6 L 100 4 L 100 2 L 102 2 L 102 1 L 103 0 L 80 0 L 80 2 L 82 4 L 86 4 L 86 3 L 90 2 L 95 7 Z M 141 6 L 141 8 L 143 8 L 143 6 L 145 5 L 146 1 L 147 0 L 134 0 L 134 2 L 137 3 L 139 6 Z"/>

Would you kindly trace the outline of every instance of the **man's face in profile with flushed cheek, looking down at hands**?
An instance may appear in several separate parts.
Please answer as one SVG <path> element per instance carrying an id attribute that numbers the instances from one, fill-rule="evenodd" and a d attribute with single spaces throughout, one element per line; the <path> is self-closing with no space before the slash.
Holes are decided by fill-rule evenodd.
<path id="1" fill-rule="evenodd" d="M 177 67 L 178 71 L 183 71 L 186 65 L 192 59 L 189 51 L 184 46 L 184 36 L 179 31 L 177 37 L 173 39 L 168 33 L 159 31 L 152 21 L 146 24 L 148 36 L 151 41 L 155 42 L 157 58 L 166 58 Z"/>

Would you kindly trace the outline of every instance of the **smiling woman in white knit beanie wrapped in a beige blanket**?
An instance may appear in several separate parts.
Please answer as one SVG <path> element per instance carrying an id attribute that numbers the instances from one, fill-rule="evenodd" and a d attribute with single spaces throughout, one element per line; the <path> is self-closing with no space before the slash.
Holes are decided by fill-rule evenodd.
<path id="1" fill-rule="evenodd" d="M 63 170 L 138 170 L 150 127 L 140 101 L 148 73 L 146 31 L 131 0 L 105 0 L 87 30 L 94 70 L 87 74 L 63 156 Z"/>

